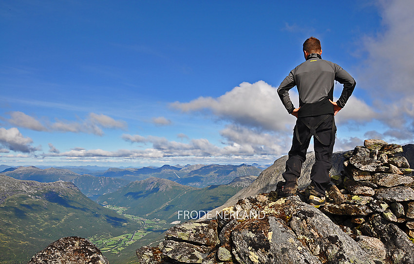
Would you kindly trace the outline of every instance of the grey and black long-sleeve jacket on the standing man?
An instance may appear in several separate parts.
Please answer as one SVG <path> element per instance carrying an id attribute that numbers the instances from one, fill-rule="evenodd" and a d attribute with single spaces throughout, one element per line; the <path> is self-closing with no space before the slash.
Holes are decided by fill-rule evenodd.
<path id="1" fill-rule="evenodd" d="M 286 76 L 278 88 L 278 94 L 288 113 L 295 109 L 288 93 L 295 85 L 299 93 L 300 117 L 334 113 L 334 106 L 329 99 L 334 99 L 335 80 L 343 84 L 342 94 L 337 101 L 338 106 L 343 108 L 354 91 L 354 78 L 338 64 L 312 53 Z"/>

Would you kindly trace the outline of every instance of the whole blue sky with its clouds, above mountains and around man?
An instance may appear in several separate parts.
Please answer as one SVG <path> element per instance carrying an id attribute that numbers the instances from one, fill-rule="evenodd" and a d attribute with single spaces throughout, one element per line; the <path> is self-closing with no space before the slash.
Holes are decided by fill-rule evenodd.
<path id="1" fill-rule="evenodd" d="M 276 89 L 310 36 L 357 81 L 335 151 L 413 143 L 413 13 L 411 0 L 3 0 L 0 163 L 271 164 L 295 122 Z"/>

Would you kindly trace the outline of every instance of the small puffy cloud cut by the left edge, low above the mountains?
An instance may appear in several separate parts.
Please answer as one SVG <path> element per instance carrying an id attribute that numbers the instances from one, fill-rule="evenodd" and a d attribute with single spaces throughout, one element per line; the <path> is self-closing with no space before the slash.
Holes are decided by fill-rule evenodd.
<path id="1" fill-rule="evenodd" d="M 24 137 L 17 128 L 0 128 L 0 144 L 7 150 L 19 152 L 33 152 L 39 150 L 31 144 L 30 137 Z"/>

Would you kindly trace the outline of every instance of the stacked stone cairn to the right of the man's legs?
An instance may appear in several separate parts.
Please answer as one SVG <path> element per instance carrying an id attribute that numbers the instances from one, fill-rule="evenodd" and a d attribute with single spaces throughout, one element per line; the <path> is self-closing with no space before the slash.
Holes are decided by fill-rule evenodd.
<path id="1" fill-rule="evenodd" d="M 332 176 L 335 186 L 321 209 L 356 236 L 370 233 L 372 218 L 381 216 L 414 238 L 413 171 L 401 146 L 365 140 L 345 153 L 343 174 Z"/>

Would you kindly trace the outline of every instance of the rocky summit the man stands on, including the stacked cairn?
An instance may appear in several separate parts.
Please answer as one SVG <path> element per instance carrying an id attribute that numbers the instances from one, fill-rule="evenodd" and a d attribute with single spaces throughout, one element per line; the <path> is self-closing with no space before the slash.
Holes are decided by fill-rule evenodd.
<path id="1" fill-rule="evenodd" d="M 324 206 L 305 190 L 245 196 L 136 254 L 143 264 L 414 264 L 413 182 L 401 146 L 366 140 L 343 153 Z"/>

